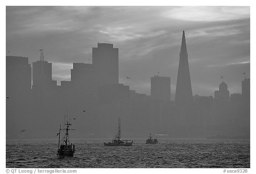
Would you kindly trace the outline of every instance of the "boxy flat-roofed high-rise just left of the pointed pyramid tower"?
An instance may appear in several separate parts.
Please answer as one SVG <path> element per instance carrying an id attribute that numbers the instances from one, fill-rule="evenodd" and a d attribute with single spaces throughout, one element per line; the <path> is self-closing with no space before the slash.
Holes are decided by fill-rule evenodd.
<path id="1" fill-rule="evenodd" d="M 161 101 L 171 100 L 171 78 L 155 75 L 151 77 L 151 96 Z"/>

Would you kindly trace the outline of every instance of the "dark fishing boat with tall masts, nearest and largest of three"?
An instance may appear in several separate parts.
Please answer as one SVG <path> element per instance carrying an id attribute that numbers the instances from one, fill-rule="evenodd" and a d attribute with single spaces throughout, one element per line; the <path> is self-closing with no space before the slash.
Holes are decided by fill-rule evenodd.
<path id="1" fill-rule="evenodd" d="M 65 130 L 65 135 L 60 140 L 60 132 L 58 133 L 59 134 L 59 143 L 58 143 L 57 155 L 59 158 L 63 158 L 65 156 L 72 157 L 76 151 L 75 145 L 72 145 L 72 143 L 70 144 L 70 141 L 69 141 L 68 131 L 74 130 L 74 129 L 69 129 L 69 127 L 71 125 L 72 124 L 68 123 L 68 121 L 66 124 L 64 124 L 64 126 L 66 126 L 66 128 L 61 129 L 61 125 L 60 125 L 60 130 Z"/>

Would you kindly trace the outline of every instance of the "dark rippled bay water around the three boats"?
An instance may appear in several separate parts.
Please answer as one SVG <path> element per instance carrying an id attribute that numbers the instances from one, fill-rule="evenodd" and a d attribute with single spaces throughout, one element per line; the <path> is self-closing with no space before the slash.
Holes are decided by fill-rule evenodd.
<path id="1" fill-rule="evenodd" d="M 7 168 L 250 168 L 250 140 L 132 138 L 132 146 L 104 146 L 111 138 L 72 139 L 74 157 L 57 158 L 57 139 L 6 140 Z"/>

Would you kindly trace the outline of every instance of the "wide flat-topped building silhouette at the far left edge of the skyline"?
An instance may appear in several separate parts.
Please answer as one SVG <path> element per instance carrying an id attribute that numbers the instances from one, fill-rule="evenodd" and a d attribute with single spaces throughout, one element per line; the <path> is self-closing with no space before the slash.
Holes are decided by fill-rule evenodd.
<path id="1" fill-rule="evenodd" d="M 28 126 L 31 115 L 28 57 L 6 56 L 6 97 L 6 137 L 22 138 L 20 130 Z"/>

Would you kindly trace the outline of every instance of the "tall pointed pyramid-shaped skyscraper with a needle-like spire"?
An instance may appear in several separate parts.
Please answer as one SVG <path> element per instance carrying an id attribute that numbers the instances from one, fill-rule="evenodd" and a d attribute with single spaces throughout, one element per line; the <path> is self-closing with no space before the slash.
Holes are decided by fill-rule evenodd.
<path id="1" fill-rule="evenodd" d="M 180 106 L 192 104 L 192 88 L 188 67 L 188 53 L 184 31 L 182 35 L 180 48 L 180 63 L 176 83 L 175 103 L 176 105 Z"/>

